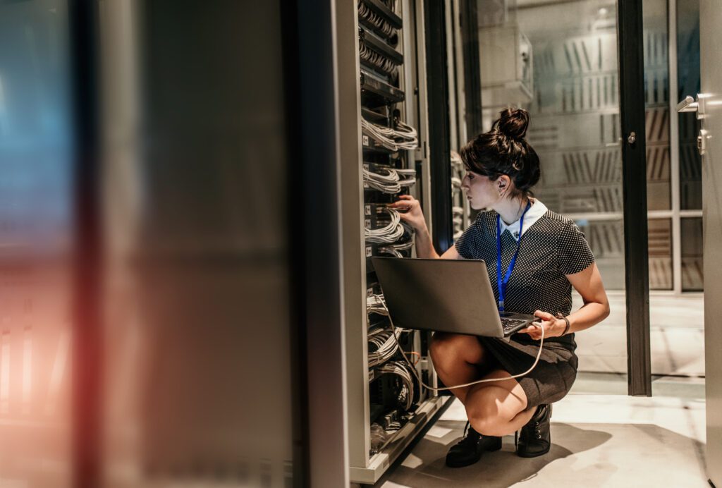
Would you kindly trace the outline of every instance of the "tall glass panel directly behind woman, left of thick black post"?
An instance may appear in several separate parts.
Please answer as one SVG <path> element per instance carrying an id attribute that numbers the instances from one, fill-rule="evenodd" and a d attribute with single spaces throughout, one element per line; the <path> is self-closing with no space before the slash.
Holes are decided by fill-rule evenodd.
<path id="1" fill-rule="evenodd" d="M 477 11 L 482 130 L 489 130 L 507 106 L 529 110 L 527 137 L 541 161 L 536 197 L 585 233 L 612 302 L 604 326 L 576 338 L 580 372 L 593 373 L 595 383 L 613 380 L 612 391 L 624 394 L 617 5 L 608 0 L 479 0 Z M 469 138 L 474 135 L 470 132 Z M 574 301 L 574 309 L 583 305 L 578 296 Z"/>

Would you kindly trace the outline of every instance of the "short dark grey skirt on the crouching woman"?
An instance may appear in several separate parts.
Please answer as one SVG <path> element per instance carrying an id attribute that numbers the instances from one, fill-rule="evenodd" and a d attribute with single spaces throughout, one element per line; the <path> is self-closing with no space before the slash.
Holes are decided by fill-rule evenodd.
<path id="1" fill-rule="evenodd" d="M 529 370 L 539 353 L 538 344 L 528 344 L 511 339 L 479 337 L 487 352 L 497 360 L 501 369 L 511 375 Z M 544 341 L 544 347 L 534 370 L 528 375 L 516 378 L 526 393 L 527 408 L 539 404 L 560 401 L 569 393 L 577 377 L 577 355 L 569 344 Z"/>

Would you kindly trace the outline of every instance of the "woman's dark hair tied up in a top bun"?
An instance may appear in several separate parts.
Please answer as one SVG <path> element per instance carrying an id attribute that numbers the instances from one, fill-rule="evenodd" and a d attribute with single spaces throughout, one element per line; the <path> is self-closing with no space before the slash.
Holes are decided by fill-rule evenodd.
<path id="1" fill-rule="evenodd" d="M 539 181 L 539 156 L 524 139 L 529 112 L 506 108 L 492 124 L 492 130 L 474 137 L 461 148 L 467 170 L 488 176 L 492 181 L 508 175 L 513 181 L 511 196 L 530 196 Z"/>

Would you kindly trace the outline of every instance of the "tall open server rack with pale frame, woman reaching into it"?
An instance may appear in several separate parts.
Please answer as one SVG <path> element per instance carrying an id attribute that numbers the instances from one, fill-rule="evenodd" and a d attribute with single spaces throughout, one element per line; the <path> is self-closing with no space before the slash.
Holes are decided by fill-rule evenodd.
<path id="1" fill-rule="evenodd" d="M 385 332 L 388 318 L 367 313 L 367 297 L 378 300 L 373 295 L 380 294 L 369 258 L 390 253 L 386 243 L 369 240 L 367 230 L 388 225 L 390 217 L 385 204 L 395 201 L 399 193 L 416 196 L 422 201 L 427 221 L 430 222 L 431 217 L 423 19 L 421 0 L 358 0 L 336 4 L 342 162 L 339 204 L 342 207 L 349 472 L 353 483 L 377 482 L 449 400 L 420 388 L 415 379 L 411 392 L 400 385 L 404 382 L 386 371 L 393 369 L 388 367 L 393 360 L 401 359 L 398 355 L 388 359 L 386 355 L 386 359 L 379 360 L 378 354 L 374 354 L 378 344 L 388 339 Z M 368 126 L 371 123 L 376 128 L 403 130 L 402 122 L 417 132 L 415 149 L 409 144 L 398 150 L 389 148 L 388 144 L 385 147 L 375 136 L 373 127 Z M 401 170 L 399 191 L 375 188 L 370 173 L 388 175 L 393 170 Z M 409 184 L 414 177 L 409 170 L 416 170 L 414 185 Z M 399 240 L 406 246 L 399 246 L 393 253 L 412 256 L 413 249 L 408 247 L 412 238 L 409 230 L 404 230 Z M 435 384 L 435 372 L 427 359 L 429 339 L 427 333 L 409 331 L 402 334 L 399 341 L 406 351 L 418 353 L 415 367 L 425 383 Z M 374 363 L 378 364 L 374 366 Z M 411 398 L 400 394 L 404 388 Z M 372 424 L 375 424 L 374 435 Z M 380 430 L 384 433 L 380 434 Z"/>

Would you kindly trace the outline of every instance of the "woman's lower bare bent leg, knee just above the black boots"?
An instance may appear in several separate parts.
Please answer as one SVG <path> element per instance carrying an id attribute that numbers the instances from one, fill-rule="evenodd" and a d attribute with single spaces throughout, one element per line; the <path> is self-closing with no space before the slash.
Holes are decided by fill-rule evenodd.
<path id="1" fill-rule="evenodd" d="M 508 435 L 521 429 L 534 415 L 527 409 L 521 385 L 504 370 L 490 372 L 484 378 L 508 378 L 479 383 L 466 391 L 466 415 L 474 430 L 483 435 Z"/>

